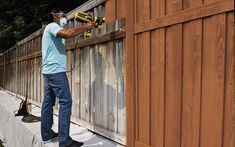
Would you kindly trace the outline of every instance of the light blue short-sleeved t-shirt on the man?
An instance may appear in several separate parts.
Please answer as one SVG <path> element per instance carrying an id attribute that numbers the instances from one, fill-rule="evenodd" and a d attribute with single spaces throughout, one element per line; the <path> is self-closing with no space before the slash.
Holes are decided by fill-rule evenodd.
<path id="1" fill-rule="evenodd" d="M 46 26 L 42 36 L 42 73 L 54 74 L 66 71 L 65 40 L 56 37 L 59 30 L 63 29 L 57 23 Z"/>

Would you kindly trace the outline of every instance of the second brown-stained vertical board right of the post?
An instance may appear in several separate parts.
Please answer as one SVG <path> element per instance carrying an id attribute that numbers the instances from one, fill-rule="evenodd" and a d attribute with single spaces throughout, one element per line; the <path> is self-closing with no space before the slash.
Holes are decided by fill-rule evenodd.
<path id="1" fill-rule="evenodd" d="M 165 1 L 151 1 L 151 19 L 165 15 Z M 156 7 L 157 6 L 157 7 Z M 164 146 L 165 29 L 151 32 L 151 146 Z"/>

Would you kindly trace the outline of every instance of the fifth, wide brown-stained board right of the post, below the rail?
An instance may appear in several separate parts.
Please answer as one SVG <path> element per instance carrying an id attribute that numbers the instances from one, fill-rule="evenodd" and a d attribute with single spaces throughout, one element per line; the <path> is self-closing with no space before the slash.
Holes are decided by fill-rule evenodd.
<path id="1" fill-rule="evenodd" d="M 221 147 L 224 107 L 226 17 L 203 22 L 201 147 Z"/>

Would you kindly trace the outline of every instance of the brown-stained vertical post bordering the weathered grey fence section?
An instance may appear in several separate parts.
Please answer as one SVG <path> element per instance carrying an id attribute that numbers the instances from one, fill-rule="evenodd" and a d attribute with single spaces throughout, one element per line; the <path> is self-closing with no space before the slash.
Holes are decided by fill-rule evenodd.
<path id="1" fill-rule="evenodd" d="M 126 87 L 125 87 L 125 96 L 126 96 L 126 137 L 127 137 L 127 146 L 135 146 L 135 98 L 136 98 L 136 89 L 135 89 L 135 54 L 136 48 L 134 44 L 134 0 L 126 1 L 126 8 L 128 14 L 126 16 L 126 60 L 125 60 L 125 77 L 126 77 Z"/>

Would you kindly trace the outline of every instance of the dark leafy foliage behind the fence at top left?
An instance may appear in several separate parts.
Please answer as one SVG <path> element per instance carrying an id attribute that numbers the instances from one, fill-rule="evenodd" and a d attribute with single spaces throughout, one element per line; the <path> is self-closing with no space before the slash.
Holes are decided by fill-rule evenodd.
<path id="1" fill-rule="evenodd" d="M 66 12 L 87 0 L 1 0 L 0 52 L 41 28 L 53 8 Z"/>

